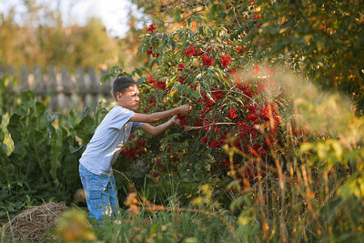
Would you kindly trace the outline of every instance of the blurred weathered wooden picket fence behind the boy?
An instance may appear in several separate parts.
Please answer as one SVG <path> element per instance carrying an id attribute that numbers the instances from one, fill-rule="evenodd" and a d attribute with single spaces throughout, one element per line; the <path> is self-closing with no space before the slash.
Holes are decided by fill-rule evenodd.
<path id="1" fill-rule="evenodd" d="M 46 69 L 46 70 L 45 70 Z M 94 67 L 76 67 L 70 74 L 66 66 L 19 66 L 15 72 L 13 66 L 0 66 L 0 78 L 9 77 L 9 91 L 23 92 L 32 90 L 37 96 L 50 96 L 48 104 L 52 111 L 69 109 L 82 110 L 86 106 L 95 109 L 102 97 L 111 99 L 110 83 L 101 85 L 101 76 L 107 71 Z M 14 78 L 13 78 L 14 77 Z"/>

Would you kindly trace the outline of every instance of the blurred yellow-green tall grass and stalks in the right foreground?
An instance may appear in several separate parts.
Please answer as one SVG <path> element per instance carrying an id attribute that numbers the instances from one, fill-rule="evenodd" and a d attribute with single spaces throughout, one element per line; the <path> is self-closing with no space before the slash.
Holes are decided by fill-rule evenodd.
<path id="1" fill-rule="evenodd" d="M 244 177 L 243 186 L 230 184 L 241 240 L 362 242 L 363 117 L 354 116 L 348 98 L 319 91 L 295 76 L 280 80 L 293 96 L 295 113 L 281 117 L 286 132 L 269 147 L 274 166 L 258 154 L 241 154 L 232 143 L 225 147 L 230 162 L 238 153 L 258 173 L 253 184 Z M 292 136 L 292 122 L 301 127 L 301 138 Z"/>

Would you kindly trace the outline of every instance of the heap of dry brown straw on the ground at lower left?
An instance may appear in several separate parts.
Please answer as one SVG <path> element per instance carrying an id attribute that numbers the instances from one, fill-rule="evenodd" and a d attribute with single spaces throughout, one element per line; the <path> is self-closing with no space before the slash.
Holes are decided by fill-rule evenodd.
<path id="1" fill-rule="evenodd" d="M 50 202 L 26 209 L 5 224 L 5 235 L 15 240 L 42 241 L 66 209 L 65 202 Z"/>

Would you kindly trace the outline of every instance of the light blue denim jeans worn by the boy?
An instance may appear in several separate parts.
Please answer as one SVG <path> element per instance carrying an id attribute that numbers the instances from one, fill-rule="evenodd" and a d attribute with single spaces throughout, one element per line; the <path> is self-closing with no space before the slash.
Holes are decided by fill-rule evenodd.
<path id="1" fill-rule="evenodd" d="M 104 217 L 115 217 L 118 208 L 114 175 L 98 176 L 79 164 L 79 175 L 85 190 L 90 218 L 101 222 Z"/>

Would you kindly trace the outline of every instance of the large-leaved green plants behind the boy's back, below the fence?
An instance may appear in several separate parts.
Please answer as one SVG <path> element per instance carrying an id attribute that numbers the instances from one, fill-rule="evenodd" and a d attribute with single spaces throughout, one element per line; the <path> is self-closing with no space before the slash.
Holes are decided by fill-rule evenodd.
<path id="1" fill-rule="evenodd" d="M 10 115 L 7 131 L 1 130 L 0 136 L 0 200 L 4 213 L 15 213 L 42 200 L 70 202 L 81 187 L 77 161 L 106 115 L 105 106 L 99 106 L 94 117 L 86 112 L 79 118 L 71 109 L 65 119 L 45 110 L 30 91 L 23 94 L 22 100 Z M 8 135 L 15 146 L 10 154 L 9 141 L 4 143 Z M 24 197 L 28 200 L 17 199 Z"/>

